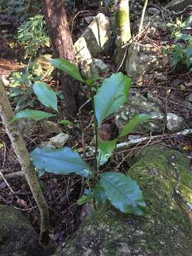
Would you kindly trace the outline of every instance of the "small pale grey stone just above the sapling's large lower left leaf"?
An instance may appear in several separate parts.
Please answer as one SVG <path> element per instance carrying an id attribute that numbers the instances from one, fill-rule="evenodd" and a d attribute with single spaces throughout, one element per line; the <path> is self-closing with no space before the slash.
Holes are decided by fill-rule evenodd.
<path id="1" fill-rule="evenodd" d="M 41 142 L 40 147 L 48 147 L 52 149 L 60 148 L 65 146 L 68 139 L 69 135 L 62 132 L 57 136 L 50 138 L 48 142 Z"/>

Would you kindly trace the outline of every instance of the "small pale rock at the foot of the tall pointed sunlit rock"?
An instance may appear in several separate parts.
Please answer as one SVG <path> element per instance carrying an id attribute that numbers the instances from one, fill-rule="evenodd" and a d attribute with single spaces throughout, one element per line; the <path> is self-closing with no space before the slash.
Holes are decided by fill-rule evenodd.
<path id="1" fill-rule="evenodd" d="M 110 68 L 106 63 L 95 58 L 83 60 L 80 69 L 82 76 L 86 79 L 92 79 L 94 76 L 107 75 L 110 72 Z"/>

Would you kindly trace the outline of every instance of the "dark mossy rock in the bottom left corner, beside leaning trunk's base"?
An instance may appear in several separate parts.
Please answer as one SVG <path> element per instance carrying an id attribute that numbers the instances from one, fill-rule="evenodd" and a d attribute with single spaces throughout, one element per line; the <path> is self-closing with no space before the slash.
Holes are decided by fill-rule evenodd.
<path id="1" fill-rule="evenodd" d="M 19 210 L 0 205 L 0 256 L 37 255 L 45 254 L 31 224 Z"/>

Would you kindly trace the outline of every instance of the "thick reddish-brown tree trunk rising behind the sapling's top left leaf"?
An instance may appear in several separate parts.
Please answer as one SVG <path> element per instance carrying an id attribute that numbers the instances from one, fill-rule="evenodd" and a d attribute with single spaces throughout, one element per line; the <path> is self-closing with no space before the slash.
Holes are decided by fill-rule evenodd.
<path id="1" fill-rule="evenodd" d="M 75 50 L 63 0 L 43 0 L 43 4 L 54 58 L 65 58 L 76 64 Z M 60 72 L 60 82 L 68 115 L 75 118 L 80 107 L 80 82 L 73 80 L 63 72 Z"/>

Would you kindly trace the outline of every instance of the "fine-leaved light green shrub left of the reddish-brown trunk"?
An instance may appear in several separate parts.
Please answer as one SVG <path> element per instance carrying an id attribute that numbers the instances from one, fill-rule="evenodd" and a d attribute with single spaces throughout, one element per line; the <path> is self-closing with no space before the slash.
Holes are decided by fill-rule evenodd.
<path id="1" fill-rule="evenodd" d="M 41 47 L 50 47 L 50 40 L 46 32 L 46 21 L 42 15 L 28 18 L 18 28 L 18 43 L 25 49 L 24 58 L 34 58 Z"/>

